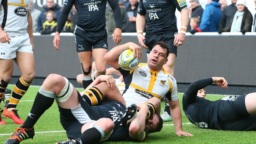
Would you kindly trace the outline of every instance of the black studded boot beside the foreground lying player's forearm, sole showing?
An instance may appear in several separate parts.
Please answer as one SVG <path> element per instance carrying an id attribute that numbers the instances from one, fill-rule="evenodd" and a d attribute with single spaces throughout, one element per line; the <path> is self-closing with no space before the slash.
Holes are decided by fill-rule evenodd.
<path id="1" fill-rule="evenodd" d="M 118 120 L 122 127 L 127 126 L 135 118 L 137 114 L 137 105 L 131 104 L 125 111 L 124 116 Z"/>

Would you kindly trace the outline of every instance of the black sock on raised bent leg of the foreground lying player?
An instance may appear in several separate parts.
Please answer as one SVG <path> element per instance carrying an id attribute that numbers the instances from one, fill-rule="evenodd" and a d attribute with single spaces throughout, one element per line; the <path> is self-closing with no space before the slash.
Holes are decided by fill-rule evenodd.
<path id="1" fill-rule="evenodd" d="M 30 110 L 30 113 L 27 119 L 24 122 L 24 128 L 30 129 L 32 128 L 37 120 L 40 118 L 43 113 L 51 107 L 55 98 L 46 97 L 39 92 L 36 95 L 33 106 Z"/>

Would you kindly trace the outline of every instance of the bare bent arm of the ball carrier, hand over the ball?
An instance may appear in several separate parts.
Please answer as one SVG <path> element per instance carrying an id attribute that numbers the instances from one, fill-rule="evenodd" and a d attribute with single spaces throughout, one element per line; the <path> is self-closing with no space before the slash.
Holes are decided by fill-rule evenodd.
<path id="1" fill-rule="evenodd" d="M 133 50 L 133 56 L 134 57 L 137 56 L 137 59 L 140 60 L 141 54 L 142 54 L 141 47 L 135 43 L 128 42 L 128 43 L 116 46 L 113 49 L 111 49 L 108 53 L 106 53 L 106 55 L 104 56 L 104 59 L 107 61 L 107 64 L 111 65 L 115 69 L 118 69 L 120 67 L 118 64 L 118 58 L 120 54 L 126 49 Z"/>

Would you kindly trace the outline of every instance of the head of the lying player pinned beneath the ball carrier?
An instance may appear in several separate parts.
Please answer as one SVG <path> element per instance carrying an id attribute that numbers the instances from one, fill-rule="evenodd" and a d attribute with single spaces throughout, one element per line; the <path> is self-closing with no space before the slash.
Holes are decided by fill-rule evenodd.
<path id="1" fill-rule="evenodd" d="M 163 119 L 159 114 L 154 114 L 146 120 L 145 128 L 148 130 L 148 133 L 159 132 L 163 128 Z"/>

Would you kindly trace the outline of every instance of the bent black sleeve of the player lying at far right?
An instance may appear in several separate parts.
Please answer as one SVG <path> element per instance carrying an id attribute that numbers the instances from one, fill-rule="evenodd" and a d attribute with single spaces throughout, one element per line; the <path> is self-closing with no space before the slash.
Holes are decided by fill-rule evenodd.
<path id="1" fill-rule="evenodd" d="M 205 88 L 206 86 L 213 83 L 212 78 L 201 79 L 191 83 L 183 96 L 183 103 L 189 104 L 195 101 L 198 90 Z"/>

